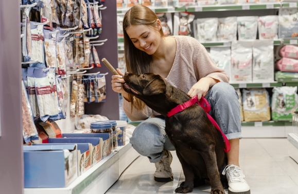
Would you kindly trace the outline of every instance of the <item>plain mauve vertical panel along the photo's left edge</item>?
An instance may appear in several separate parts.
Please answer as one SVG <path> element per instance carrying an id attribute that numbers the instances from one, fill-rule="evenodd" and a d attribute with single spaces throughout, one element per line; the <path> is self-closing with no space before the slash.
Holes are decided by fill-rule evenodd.
<path id="1" fill-rule="evenodd" d="M 0 193 L 24 187 L 19 1 L 0 1 Z"/>

